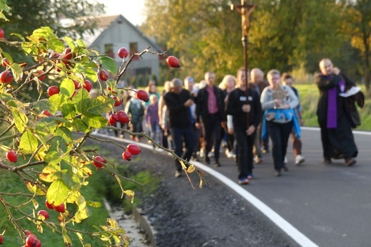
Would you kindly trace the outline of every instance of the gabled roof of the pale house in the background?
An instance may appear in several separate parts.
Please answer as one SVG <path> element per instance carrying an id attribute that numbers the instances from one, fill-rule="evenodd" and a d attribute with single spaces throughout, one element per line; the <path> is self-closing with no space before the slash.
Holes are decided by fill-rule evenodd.
<path id="1" fill-rule="evenodd" d="M 98 43 L 98 41 L 103 38 L 104 34 L 109 31 L 110 28 L 112 28 L 112 24 L 114 22 L 125 22 L 128 26 L 133 28 L 136 33 L 138 33 L 139 36 L 141 36 L 143 39 L 145 39 L 151 46 L 151 48 L 156 49 L 157 52 L 162 53 L 163 49 L 158 46 L 151 38 L 148 38 L 143 34 L 141 30 L 139 30 L 138 27 L 134 26 L 133 23 L 128 21 L 122 14 L 114 15 L 114 16 L 94 16 L 94 17 L 87 17 L 86 21 L 95 21 L 96 22 L 96 31 L 93 35 L 87 35 L 84 37 L 84 40 L 86 40 L 86 43 L 89 47 L 93 47 L 95 43 Z"/>

